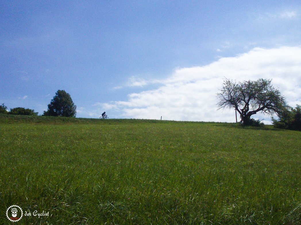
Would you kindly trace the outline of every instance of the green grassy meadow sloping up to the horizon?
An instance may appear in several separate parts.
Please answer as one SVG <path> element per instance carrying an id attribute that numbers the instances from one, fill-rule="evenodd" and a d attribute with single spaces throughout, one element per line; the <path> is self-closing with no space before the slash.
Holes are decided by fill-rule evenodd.
<path id="1" fill-rule="evenodd" d="M 301 133 L 0 116 L 0 224 L 300 224 Z M 33 216 L 33 212 L 49 216 Z"/>

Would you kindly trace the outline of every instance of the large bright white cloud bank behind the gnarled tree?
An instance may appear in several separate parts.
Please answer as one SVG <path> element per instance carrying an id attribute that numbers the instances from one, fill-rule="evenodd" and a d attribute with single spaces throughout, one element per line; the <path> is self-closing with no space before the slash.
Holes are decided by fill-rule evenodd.
<path id="1" fill-rule="evenodd" d="M 129 95 L 128 101 L 106 103 L 123 118 L 235 122 L 234 110 L 217 110 L 216 93 L 223 78 L 237 81 L 272 79 L 291 106 L 301 104 L 301 47 L 254 48 L 211 64 L 179 68 L 154 90 Z M 254 119 L 269 117 L 254 115 Z M 238 118 L 239 119 L 239 118 Z"/>

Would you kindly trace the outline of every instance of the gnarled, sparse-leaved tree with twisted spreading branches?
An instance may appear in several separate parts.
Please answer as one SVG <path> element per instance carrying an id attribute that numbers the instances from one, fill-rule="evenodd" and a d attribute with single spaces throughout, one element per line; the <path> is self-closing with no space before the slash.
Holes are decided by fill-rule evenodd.
<path id="1" fill-rule="evenodd" d="M 219 109 L 235 108 L 243 125 L 252 125 L 255 120 L 250 117 L 258 112 L 278 115 L 287 105 L 284 96 L 267 79 L 238 83 L 225 79 L 217 98 Z"/>

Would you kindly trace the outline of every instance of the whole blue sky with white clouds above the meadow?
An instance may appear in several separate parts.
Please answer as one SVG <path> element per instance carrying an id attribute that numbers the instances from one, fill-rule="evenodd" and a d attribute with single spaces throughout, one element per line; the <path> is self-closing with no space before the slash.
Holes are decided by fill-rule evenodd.
<path id="1" fill-rule="evenodd" d="M 64 89 L 77 117 L 234 122 L 224 77 L 301 104 L 300 28 L 300 1 L 0 1 L 0 104 Z"/>

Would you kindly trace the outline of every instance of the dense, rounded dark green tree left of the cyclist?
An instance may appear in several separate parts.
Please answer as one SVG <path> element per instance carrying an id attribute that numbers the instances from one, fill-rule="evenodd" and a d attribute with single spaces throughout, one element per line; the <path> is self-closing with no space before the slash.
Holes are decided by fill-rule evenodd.
<path id="1" fill-rule="evenodd" d="M 44 111 L 43 116 L 76 116 L 76 105 L 71 96 L 65 90 L 58 90 L 48 104 L 48 110 Z"/>

